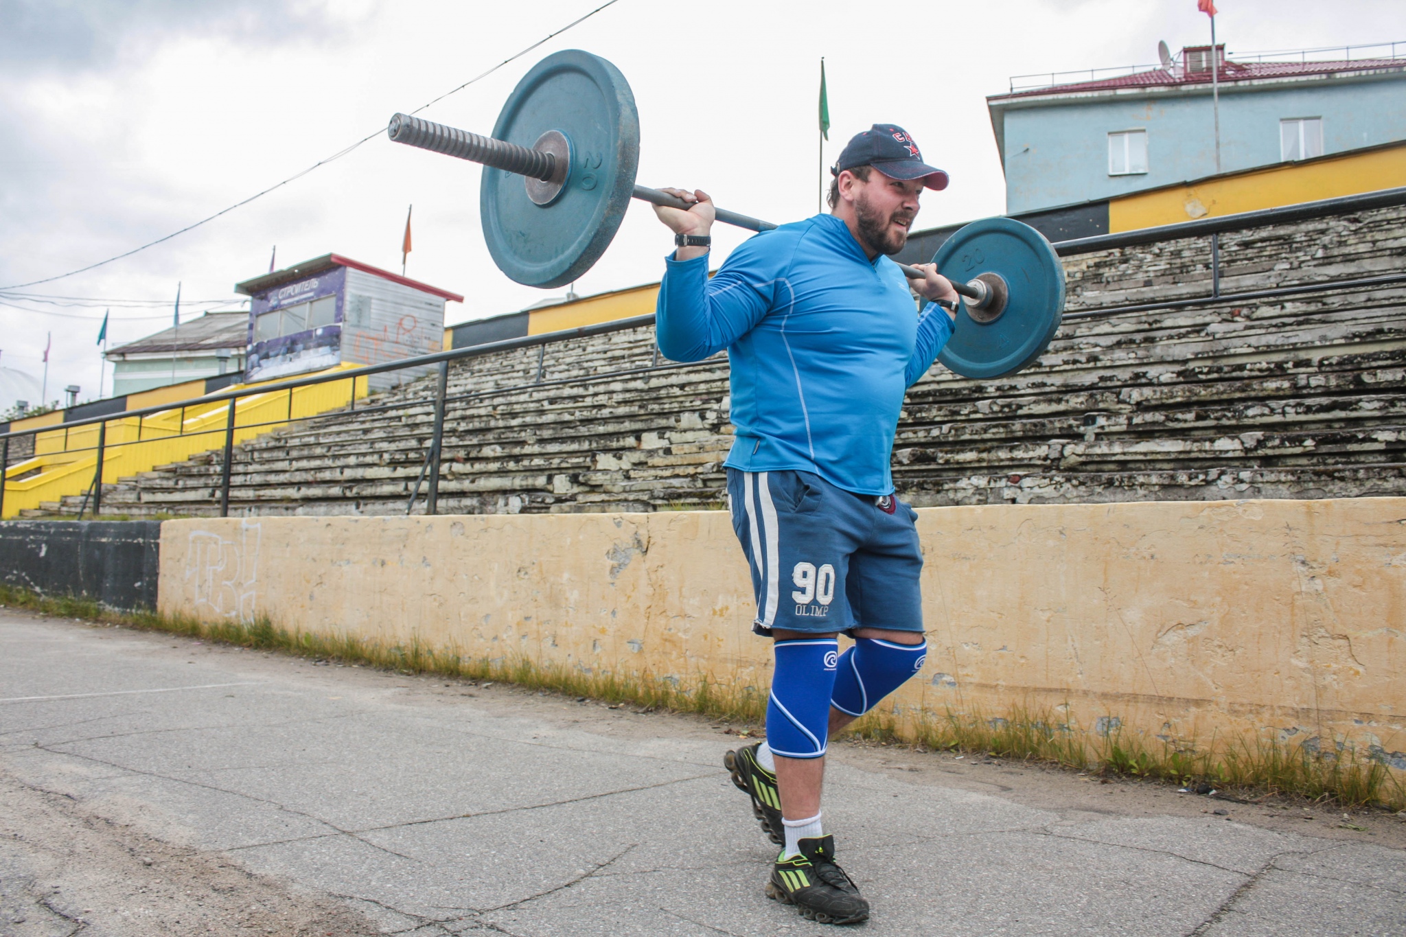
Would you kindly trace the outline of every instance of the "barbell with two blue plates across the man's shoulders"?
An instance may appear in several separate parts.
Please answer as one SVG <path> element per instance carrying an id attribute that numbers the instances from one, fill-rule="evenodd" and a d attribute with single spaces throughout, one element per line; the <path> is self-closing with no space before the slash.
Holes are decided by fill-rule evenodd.
<path id="1" fill-rule="evenodd" d="M 387 133 L 484 166 L 479 218 L 494 263 L 509 278 L 550 289 L 581 277 L 610 246 L 630 199 L 688 209 L 668 192 L 637 185 L 640 117 L 616 66 L 600 56 L 555 52 L 523 76 L 492 136 L 408 114 Z M 717 208 L 717 221 L 748 230 L 770 222 Z M 934 254 L 965 298 L 938 355 L 967 378 L 998 378 L 1049 347 L 1064 310 L 1064 268 L 1038 230 L 1012 218 L 957 229 Z M 898 264 L 904 274 L 922 271 Z"/>

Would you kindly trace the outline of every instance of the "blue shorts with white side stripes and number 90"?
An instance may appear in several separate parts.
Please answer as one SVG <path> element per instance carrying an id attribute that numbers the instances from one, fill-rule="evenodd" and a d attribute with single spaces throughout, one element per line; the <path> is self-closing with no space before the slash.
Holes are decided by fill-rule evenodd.
<path id="1" fill-rule="evenodd" d="M 733 530 L 752 566 L 752 631 L 922 631 L 917 511 L 813 472 L 727 469 Z"/>

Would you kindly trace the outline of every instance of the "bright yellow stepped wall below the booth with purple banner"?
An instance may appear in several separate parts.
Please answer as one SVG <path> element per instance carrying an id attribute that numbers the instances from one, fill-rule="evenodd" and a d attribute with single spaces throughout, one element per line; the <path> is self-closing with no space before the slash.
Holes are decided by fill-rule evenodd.
<path id="1" fill-rule="evenodd" d="M 349 369 L 356 365 L 339 365 Z M 281 381 L 283 378 L 280 378 Z M 263 384 L 274 384 L 264 381 Z M 257 388 L 259 384 L 239 385 Z M 107 421 L 103 447 L 103 483 L 149 472 L 157 465 L 180 462 L 211 450 L 224 448 L 229 402 L 200 402 L 205 382 L 194 381 L 169 388 L 156 388 L 127 398 L 128 409 L 143 409 L 163 403 L 187 403 L 150 416 L 122 417 Z M 226 388 L 235 389 L 235 388 Z M 240 398 L 235 413 L 235 443 L 245 443 L 287 426 L 290 419 L 326 413 L 347 405 L 353 393 L 352 381 L 329 381 L 307 388 L 274 393 L 252 393 Z M 367 395 L 367 379 L 356 379 L 356 396 Z M 52 426 L 62 413 L 35 417 Z M 15 424 L 15 428 L 22 428 Z M 38 509 L 46 502 L 58 502 L 65 494 L 82 494 L 93 483 L 97 469 L 98 424 L 55 428 L 35 435 L 34 458 L 17 462 L 4 472 L 4 517 L 17 517 L 22 510 Z"/>

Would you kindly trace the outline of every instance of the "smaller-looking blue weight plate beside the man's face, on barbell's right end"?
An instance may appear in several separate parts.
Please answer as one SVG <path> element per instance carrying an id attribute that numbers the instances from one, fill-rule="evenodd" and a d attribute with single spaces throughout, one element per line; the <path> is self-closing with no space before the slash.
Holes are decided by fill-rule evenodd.
<path id="1" fill-rule="evenodd" d="M 1010 296 L 994 322 L 957 313 L 956 330 L 938 361 L 965 378 L 1001 378 L 1032 364 L 1064 315 L 1064 267 L 1045 236 L 1012 218 L 987 218 L 959 229 L 932 263 L 949 280 L 994 273 Z"/>

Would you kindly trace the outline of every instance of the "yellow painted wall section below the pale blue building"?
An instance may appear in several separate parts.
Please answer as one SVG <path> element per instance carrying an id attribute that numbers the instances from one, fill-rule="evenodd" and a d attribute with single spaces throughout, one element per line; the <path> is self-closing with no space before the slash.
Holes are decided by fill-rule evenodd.
<path id="1" fill-rule="evenodd" d="M 1175 225 L 1398 185 L 1406 185 L 1406 143 L 1114 198 L 1108 202 L 1108 230 Z"/>

